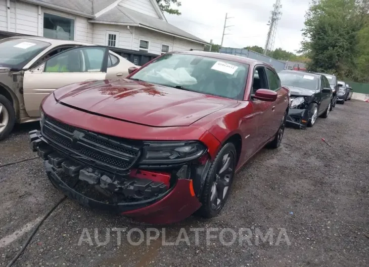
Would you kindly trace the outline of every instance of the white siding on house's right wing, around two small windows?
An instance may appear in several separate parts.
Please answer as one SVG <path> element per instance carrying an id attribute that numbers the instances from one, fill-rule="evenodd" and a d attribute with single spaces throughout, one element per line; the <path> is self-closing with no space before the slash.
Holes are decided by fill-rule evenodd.
<path id="1" fill-rule="evenodd" d="M 173 37 L 160 32 L 145 28 L 135 27 L 133 38 L 133 50 L 139 50 L 140 40 L 149 41 L 149 53 L 161 54 L 161 45 L 169 45 L 169 51 L 183 51 L 193 49 L 203 49 L 204 45 Z"/>

